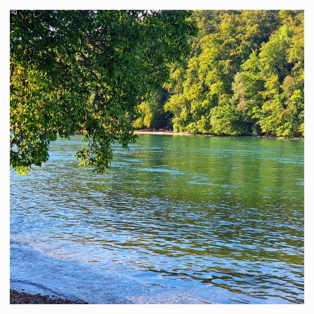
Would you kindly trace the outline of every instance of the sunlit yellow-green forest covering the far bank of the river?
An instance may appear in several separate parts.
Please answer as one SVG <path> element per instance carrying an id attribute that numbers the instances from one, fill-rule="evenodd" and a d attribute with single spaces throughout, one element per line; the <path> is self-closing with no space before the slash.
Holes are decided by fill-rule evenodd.
<path id="1" fill-rule="evenodd" d="M 304 11 L 197 10 L 197 37 L 135 128 L 175 132 L 304 136 Z"/>

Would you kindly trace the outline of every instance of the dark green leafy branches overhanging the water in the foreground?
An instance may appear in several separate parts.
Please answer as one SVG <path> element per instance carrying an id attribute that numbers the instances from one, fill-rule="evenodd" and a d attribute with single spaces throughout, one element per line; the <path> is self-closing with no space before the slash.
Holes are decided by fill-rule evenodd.
<path id="1" fill-rule="evenodd" d="M 191 11 L 10 11 L 10 165 L 27 174 L 57 135 L 85 130 L 81 165 L 102 173 L 111 144 L 137 138 L 132 118 L 168 81 L 197 34 Z M 131 120 L 130 120 L 131 116 Z"/>

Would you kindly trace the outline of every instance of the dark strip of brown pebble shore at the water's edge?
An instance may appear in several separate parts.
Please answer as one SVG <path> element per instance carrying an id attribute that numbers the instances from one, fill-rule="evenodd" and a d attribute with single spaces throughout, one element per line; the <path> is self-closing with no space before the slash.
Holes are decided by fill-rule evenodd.
<path id="1" fill-rule="evenodd" d="M 82 300 L 69 300 L 53 295 L 30 294 L 10 289 L 10 304 L 88 304 Z"/>

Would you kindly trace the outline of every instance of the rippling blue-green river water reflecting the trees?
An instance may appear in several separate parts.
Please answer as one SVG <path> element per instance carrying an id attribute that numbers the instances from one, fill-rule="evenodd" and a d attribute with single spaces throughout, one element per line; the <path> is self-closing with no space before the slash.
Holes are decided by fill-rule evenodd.
<path id="1" fill-rule="evenodd" d="M 89 303 L 303 303 L 304 141 L 140 135 L 103 175 L 80 135 L 10 177 L 10 287 Z"/>

